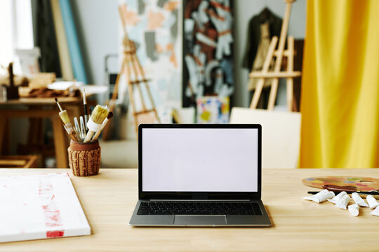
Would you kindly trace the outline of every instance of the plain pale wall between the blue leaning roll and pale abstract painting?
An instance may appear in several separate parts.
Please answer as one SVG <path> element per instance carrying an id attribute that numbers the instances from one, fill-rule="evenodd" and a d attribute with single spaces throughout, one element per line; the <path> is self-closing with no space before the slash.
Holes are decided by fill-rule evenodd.
<path id="1" fill-rule="evenodd" d="M 71 0 L 88 84 L 104 83 L 104 57 L 119 52 L 119 0 Z"/>

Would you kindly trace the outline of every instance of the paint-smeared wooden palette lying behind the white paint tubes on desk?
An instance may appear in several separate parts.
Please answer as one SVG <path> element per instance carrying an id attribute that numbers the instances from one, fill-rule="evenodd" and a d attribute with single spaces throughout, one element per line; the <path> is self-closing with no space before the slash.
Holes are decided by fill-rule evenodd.
<path id="1" fill-rule="evenodd" d="M 360 191 L 379 189 L 379 179 L 357 176 L 316 176 L 302 179 L 305 186 L 323 189 L 325 185 L 356 188 Z"/>

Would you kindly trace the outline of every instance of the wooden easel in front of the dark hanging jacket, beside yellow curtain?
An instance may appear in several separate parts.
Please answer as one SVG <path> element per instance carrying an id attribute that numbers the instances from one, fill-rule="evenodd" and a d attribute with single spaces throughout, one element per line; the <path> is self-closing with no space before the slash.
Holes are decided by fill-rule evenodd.
<path id="1" fill-rule="evenodd" d="M 266 78 L 273 78 L 270 90 L 270 97 L 267 106 L 267 110 L 272 111 L 275 105 L 275 99 L 277 99 L 277 90 L 279 78 L 287 79 L 287 108 L 288 111 L 292 111 L 293 103 L 293 78 L 299 77 L 301 75 L 300 71 L 293 71 L 293 36 L 288 36 L 288 48 L 284 50 L 284 44 L 286 43 L 286 34 L 288 30 L 288 22 L 291 15 L 291 6 L 295 0 L 284 0 L 286 2 L 286 13 L 284 15 L 284 20 L 281 25 L 280 39 L 278 50 L 275 50 L 277 46 L 278 37 L 273 36 L 270 42 L 269 49 L 263 63 L 262 71 L 252 71 L 249 74 L 250 78 L 258 78 L 257 85 L 255 87 L 255 92 L 253 99 L 251 99 L 250 108 L 256 109 L 260 94 L 262 93 L 263 84 L 265 83 Z M 270 64 L 273 57 L 277 57 L 274 65 L 274 71 L 269 71 Z M 281 59 L 287 57 L 287 71 L 280 71 L 281 69 Z"/>

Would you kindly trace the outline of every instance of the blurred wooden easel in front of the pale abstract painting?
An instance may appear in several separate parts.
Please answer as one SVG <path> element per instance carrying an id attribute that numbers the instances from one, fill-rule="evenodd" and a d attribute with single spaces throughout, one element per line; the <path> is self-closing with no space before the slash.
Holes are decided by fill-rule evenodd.
<path id="1" fill-rule="evenodd" d="M 128 33 L 126 31 L 126 5 L 119 6 L 119 15 L 121 18 L 121 23 L 124 31 L 124 57 L 122 59 L 121 63 L 121 70 L 116 78 L 116 83 L 114 84 L 114 92 L 112 94 L 112 99 L 109 100 L 109 111 L 114 111 L 114 106 L 116 104 L 117 100 L 117 94 L 119 89 L 119 80 L 121 78 L 121 75 L 124 73 L 124 76 L 126 78 L 126 82 L 128 83 L 128 95 L 131 102 L 131 108 L 133 109 L 133 117 L 135 122 L 135 132 L 138 134 L 138 125 L 139 125 L 139 116 L 147 115 L 149 113 L 154 112 L 154 116 L 157 119 L 158 123 L 161 123 L 159 120 L 159 116 L 157 113 L 157 109 L 155 109 L 154 100 L 152 98 L 152 94 L 149 90 L 149 85 L 147 78 L 145 78 L 145 71 L 142 69 L 142 66 L 140 64 L 140 61 L 138 60 L 138 57 L 136 55 L 136 48 L 135 43 L 131 41 L 128 38 Z M 141 83 L 145 83 L 145 87 L 147 90 L 147 95 L 149 97 L 149 100 L 152 104 L 152 109 L 147 109 L 145 105 L 145 100 L 143 98 L 142 90 L 140 87 Z M 138 94 L 140 97 L 142 110 L 141 111 L 135 111 L 135 99 L 134 99 L 134 85 L 138 89 Z M 112 120 L 109 121 L 111 123 Z M 107 127 L 105 127 L 104 131 L 102 132 L 102 139 L 107 140 L 108 132 L 109 132 L 109 123 L 107 123 Z M 154 122 L 149 122 L 154 123 Z"/>

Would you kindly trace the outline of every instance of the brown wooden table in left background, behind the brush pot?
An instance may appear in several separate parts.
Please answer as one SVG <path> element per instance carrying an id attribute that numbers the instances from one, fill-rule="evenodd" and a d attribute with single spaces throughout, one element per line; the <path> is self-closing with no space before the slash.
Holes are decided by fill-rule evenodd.
<path id="1" fill-rule="evenodd" d="M 82 109 L 81 97 L 61 97 L 59 102 L 71 118 L 78 116 Z M 26 106 L 26 109 L 20 109 L 20 106 Z M 57 167 L 67 168 L 68 135 L 63 129 L 58 112 L 58 106 L 53 98 L 20 98 L 0 102 L 0 155 L 7 135 L 6 125 L 9 118 L 50 118 L 53 123 Z"/>

